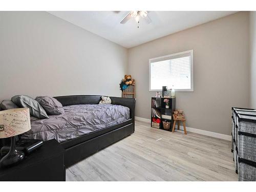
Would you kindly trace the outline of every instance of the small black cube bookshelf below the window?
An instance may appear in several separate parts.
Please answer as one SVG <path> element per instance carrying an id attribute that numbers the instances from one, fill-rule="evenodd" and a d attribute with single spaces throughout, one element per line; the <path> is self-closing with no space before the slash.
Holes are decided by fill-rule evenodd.
<path id="1" fill-rule="evenodd" d="M 165 108 L 165 102 L 164 99 L 169 99 L 169 109 Z M 173 112 L 175 111 L 175 100 L 176 98 L 163 98 L 163 97 L 152 97 L 151 98 L 151 126 L 166 130 L 163 127 L 163 121 L 167 120 L 170 122 L 170 129 L 166 131 L 172 131 L 173 126 Z M 165 115 L 165 117 L 162 117 L 162 115 Z M 167 118 L 168 117 L 168 118 Z M 153 118 L 159 119 L 160 123 L 153 122 Z M 169 119 L 171 118 L 171 119 Z M 158 120 L 158 121 L 159 121 Z"/>

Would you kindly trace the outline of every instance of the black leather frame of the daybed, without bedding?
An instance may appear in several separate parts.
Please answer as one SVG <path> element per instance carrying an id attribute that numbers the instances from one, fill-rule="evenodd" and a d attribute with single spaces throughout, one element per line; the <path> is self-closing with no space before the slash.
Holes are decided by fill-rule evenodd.
<path id="1" fill-rule="evenodd" d="M 100 96 L 95 95 L 76 95 L 54 97 L 63 106 L 75 104 L 98 104 L 101 100 Z M 65 166 L 68 167 L 102 148 L 113 144 L 114 142 L 131 135 L 135 131 L 134 112 L 135 101 L 133 98 L 110 97 L 111 104 L 126 106 L 130 109 L 130 119 L 108 127 L 104 130 L 92 132 L 60 144 L 65 148 Z"/>

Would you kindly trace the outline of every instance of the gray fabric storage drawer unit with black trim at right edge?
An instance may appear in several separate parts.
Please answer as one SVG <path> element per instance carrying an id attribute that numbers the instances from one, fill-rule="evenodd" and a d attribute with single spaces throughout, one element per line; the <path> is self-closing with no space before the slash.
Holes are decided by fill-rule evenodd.
<path id="1" fill-rule="evenodd" d="M 232 108 L 232 142 L 239 181 L 255 181 L 256 110 Z"/>

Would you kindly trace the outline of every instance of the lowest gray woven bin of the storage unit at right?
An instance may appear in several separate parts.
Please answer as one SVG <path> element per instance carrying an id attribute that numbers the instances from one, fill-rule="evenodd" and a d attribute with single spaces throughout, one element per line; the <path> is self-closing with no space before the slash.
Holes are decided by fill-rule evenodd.
<path id="1" fill-rule="evenodd" d="M 256 181 L 256 167 L 240 162 L 238 170 L 238 181 Z"/>

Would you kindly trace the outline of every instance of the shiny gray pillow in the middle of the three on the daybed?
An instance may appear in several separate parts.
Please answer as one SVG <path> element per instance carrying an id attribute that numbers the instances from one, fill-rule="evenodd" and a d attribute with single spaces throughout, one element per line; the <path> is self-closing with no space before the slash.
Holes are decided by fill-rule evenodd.
<path id="1" fill-rule="evenodd" d="M 15 95 L 11 100 L 20 108 L 29 108 L 30 115 L 34 117 L 39 119 L 49 118 L 44 108 L 32 97 L 27 95 Z"/>

